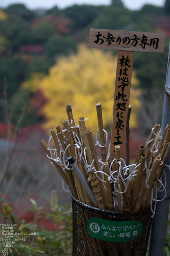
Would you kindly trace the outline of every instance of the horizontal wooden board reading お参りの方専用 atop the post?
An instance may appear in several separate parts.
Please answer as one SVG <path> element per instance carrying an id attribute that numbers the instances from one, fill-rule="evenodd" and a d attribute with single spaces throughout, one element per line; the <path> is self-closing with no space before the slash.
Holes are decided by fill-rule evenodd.
<path id="1" fill-rule="evenodd" d="M 165 34 L 90 29 L 89 47 L 126 51 L 164 52 Z"/>

